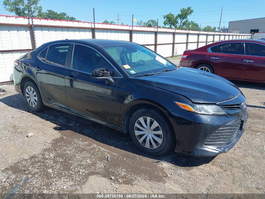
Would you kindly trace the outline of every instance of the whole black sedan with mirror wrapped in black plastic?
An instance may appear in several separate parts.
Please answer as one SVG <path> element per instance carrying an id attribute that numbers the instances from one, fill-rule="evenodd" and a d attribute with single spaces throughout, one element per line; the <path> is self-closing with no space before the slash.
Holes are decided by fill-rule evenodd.
<path id="1" fill-rule="evenodd" d="M 245 97 L 233 83 L 179 69 L 132 42 L 53 41 L 14 65 L 15 89 L 31 110 L 49 106 L 130 133 L 153 155 L 173 147 L 194 156 L 227 152 L 247 119 Z"/>

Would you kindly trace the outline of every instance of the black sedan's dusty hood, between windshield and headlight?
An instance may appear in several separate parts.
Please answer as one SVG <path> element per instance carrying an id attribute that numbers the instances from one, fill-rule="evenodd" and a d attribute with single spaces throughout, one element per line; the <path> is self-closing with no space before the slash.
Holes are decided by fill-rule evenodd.
<path id="1" fill-rule="evenodd" d="M 185 67 L 139 79 L 151 86 L 183 95 L 195 103 L 218 103 L 241 92 L 236 85 L 218 75 Z"/>

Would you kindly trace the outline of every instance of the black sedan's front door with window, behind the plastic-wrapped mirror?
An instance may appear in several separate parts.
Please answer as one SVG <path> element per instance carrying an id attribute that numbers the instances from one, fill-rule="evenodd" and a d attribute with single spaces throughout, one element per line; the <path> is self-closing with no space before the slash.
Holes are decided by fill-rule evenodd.
<path id="1" fill-rule="evenodd" d="M 68 108 L 119 125 L 124 78 L 101 53 L 84 45 L 74 44 L 71 65 L 66 73 Z M 96 68 L 107 68 L 114 83 L 107 85 L 105 80 L 93 78 Z"/>

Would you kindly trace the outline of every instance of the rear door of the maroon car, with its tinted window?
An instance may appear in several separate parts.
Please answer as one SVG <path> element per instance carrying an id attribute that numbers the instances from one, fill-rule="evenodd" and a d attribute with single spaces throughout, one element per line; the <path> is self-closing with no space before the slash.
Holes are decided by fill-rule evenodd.
<path id="1" fill-rule="evenodd" d="M 239 78 L 242 67 L 242 43 L 222 43 L 208 49 L 215 73 L 225 78 Z"/>

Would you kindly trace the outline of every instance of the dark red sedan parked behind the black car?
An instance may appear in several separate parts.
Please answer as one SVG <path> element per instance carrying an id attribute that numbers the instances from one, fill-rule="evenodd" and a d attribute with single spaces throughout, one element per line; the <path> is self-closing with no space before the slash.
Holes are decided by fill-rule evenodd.
<path id="1" fill-rule="evenodd" d="M 226 40 L 186 50 L 179 66 L 204 70 L 229 80 L 265 83 L 265 41 Z"/>

